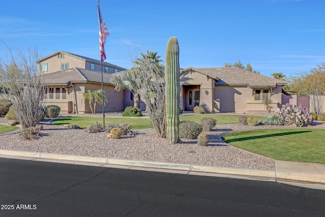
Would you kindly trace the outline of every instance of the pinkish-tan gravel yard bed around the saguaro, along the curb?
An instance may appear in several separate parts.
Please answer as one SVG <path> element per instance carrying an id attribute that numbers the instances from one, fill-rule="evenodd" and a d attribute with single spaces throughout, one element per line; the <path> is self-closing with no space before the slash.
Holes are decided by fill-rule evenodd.
<path id="1" fill-rule="evenodd" d="M 66 129 L 52 125 L 44 119 L 41 138 L 22 140 L 18 131 L 0 134 L 0 149 L 72 154 L 77 156 L 116 158 L 194 164 L 218 167 L 274 170 L 275 161 L 230 146 L 219 139 L 224 132 L 278 126 L 217 125 L 209 135 L 209 146 L 198 146 L 196 140 L 181 139 L 171 145 L 166 139 L 157 138 L 152 129 L 134 130 L 135 136 L 108 139 L 106 133 L 86 133 L 84 130 Z M 0 117 L 0 123 L 6 123 Z M 308 126 L 324 128 L 323 125 Z M 283 127 L 284 128 L 284 127 Z"/>

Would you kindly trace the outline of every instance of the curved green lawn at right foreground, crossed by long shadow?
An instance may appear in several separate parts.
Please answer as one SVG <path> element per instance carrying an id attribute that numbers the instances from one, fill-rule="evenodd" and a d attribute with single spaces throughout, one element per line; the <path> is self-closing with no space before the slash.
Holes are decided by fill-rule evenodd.
<path id="1" fill-rule="evenodd" d="M 325 163 L 324 129 L 268 129 L 225 134 L 235 147 L 281 161 Z"/>

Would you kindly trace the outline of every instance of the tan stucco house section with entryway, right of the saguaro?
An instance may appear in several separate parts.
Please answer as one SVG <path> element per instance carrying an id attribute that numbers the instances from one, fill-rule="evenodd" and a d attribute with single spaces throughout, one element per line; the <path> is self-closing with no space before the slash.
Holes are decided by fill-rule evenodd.
<path id="1" fill-rule="evenodd" d="M 286 103 L 286 82 L 233 67 L 182 69 L 180 83 L 184 110 L 202 106 L 210 112 L 265 112 L 263 100 L 272 100 L 273 111 Z"/>

